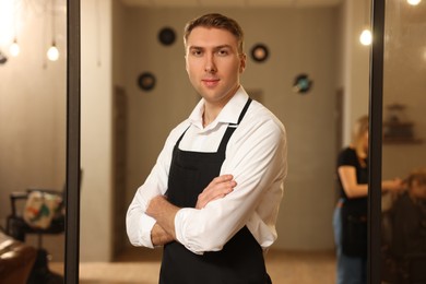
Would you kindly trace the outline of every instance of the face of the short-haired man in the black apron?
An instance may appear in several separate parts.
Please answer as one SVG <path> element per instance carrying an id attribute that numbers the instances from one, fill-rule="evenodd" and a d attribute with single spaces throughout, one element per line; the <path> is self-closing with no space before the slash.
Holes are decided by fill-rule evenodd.
<path id="1" fill-rule="evenodd" d="M 196 27 L 188 36 L 186 68 L 196 91 L 210 104 L 225 105 L 239 87 L 246 56 L 226 29 Z"/>

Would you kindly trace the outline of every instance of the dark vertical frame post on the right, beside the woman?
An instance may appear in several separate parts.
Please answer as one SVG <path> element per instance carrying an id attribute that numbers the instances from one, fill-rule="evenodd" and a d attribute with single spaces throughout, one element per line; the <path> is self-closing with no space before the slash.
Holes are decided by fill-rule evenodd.
<path id="1" fill-rule="evenodd" d="M 381 152 L 383 105 L 384 0 L 372 0 L 368 135 L 368 283 L 381 283 Z"/>

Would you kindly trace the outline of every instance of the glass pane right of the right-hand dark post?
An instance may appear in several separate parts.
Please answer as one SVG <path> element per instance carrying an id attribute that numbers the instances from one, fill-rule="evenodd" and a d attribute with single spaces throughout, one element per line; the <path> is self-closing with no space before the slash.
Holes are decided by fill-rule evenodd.
<path id="1" fill-rule="evenodd" d="M 382 280 L 426 281 L 426 2 L 386 2 L 382 176 L 407 191 L 382 197 Z"/>

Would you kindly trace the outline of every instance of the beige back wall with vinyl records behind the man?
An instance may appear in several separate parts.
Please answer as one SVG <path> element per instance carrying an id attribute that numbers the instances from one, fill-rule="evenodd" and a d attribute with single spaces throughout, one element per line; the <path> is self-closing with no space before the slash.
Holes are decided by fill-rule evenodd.
<path id="1" fill-rule="evenodd" d="M 208 9 L 129 9 L 125 22 L 129 99 L 128 202 L 150 173 L 170 129 L 197 102 L 185 71 L 182 27 Z M 246 29 L 246 51 L 267 44 L 270 58 L 260 64 L 248 59 L 244 86 L 261 91 L 262 103 L 286 126 L 288 178 L 279 217 L 276 248 L 332 249 L 334 205 L 338 9 L 216 9 L 237 19 Z M 157 32 L 171 26 L 177 43 L 164 47 Z M 143 71 L 157 76 L 157 86 L 142 92 L 135 82 Z M 292 92 L 294 78 L 308 73 L 313 88 Z"/>

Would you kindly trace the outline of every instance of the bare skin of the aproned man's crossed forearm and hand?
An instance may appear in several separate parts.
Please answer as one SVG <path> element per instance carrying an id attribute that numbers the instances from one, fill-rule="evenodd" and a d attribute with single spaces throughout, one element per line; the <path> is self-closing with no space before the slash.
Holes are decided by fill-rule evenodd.
<path id="1" fill-rule="evenodd" d="M 223 198 L 234 190 L 237 182 L 232 175 L 222 175 L 214 178 L 199 194 L 196 209 L 201 210 L 209 202 Z M 156 220 L 151 232 L 154 246 L 162 246 L 176 240 L 175 216 L 180 209 L 167 201 L 165 196 L 154 197 L 146 209 L 146 214 Z"/>

